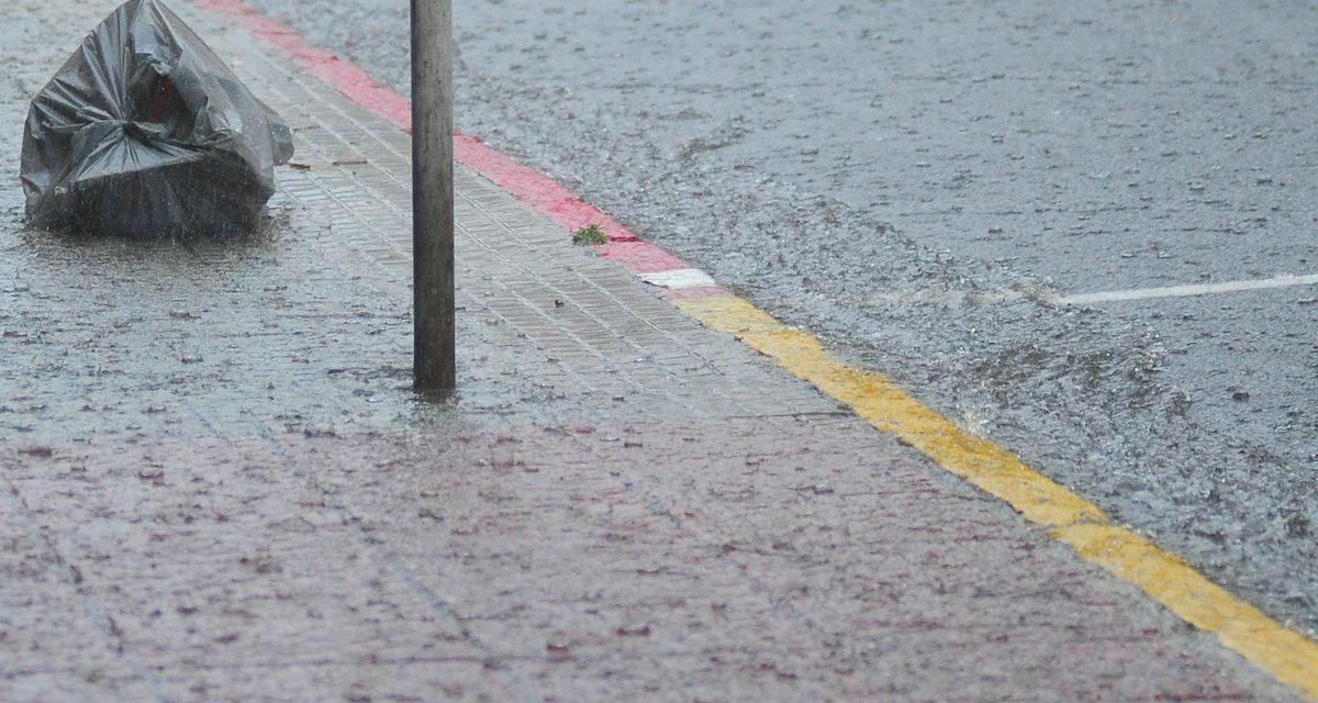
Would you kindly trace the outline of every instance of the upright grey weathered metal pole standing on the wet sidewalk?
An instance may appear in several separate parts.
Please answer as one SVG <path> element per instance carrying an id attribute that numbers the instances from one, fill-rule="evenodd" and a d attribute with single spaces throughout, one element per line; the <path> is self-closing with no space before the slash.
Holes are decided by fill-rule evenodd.
<path id="1" fill-rule="evenodd" d="M 418 390 L 452 390 L 453 62 L 451 0 L 411 0 L 413 373 Z"/>

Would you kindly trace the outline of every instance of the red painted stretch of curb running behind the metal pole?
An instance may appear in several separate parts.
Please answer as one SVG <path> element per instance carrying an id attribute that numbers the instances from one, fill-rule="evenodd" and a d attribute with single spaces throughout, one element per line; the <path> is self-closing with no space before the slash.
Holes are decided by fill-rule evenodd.
<path id="1" fill-rule="evenodd" d="M 202 9 L 232 20 L 256 37 L 282 49 L 293 63 L 324 80 L 349 100 L 405 131 L 411 131 L 411 102 L 377 83 L 351 61 L 340 59 L 319 46 L 307 44 L 293 29 L 265 17 L 241 0 L 192 0 L 192 3 Z M 604 245 L 601 251 L 604 257 L 616 261 L 631 273 L 692 268 L 691 264 L 659 247 L 641 241 L 641 237 L 583 200 L 580 195 L 563 187 L 552 178 L 486 146 L 477 137 L 455 132 L 453 161 L 480 173 L 568 232 L 575 232 L 589 224 L 598 226 L 609 237 L 609 244 Z M 706 295 L 728 293 L 721 288 L 699 288 L 681 291 L 680 295 L 676 291 L 668 291 L 668 294 L 681 298 L 705 297 L 700 291 L 708 291 Z"/>

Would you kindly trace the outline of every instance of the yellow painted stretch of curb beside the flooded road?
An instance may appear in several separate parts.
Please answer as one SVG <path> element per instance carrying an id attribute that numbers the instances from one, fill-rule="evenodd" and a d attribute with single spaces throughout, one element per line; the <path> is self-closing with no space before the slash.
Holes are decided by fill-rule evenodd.
<path id="1" fill-rule="evenodd" d="M 1003 500 L 1052 530 L 1089 562 L 1133 583 L 1195 628 L 1218 636 L 1277 681 L 1318 700 L 1318 642 L 1281 627 L 1174 554 L 1116 525 L 1097 505 L 1025 466 L 1016 455 L 973 437 L 880 373 L 847 368 L 808 332 L 735 297 L 673 303 L 706 327 L 735 335 L 792 375 L 851 406 L 945 470 Z"/>

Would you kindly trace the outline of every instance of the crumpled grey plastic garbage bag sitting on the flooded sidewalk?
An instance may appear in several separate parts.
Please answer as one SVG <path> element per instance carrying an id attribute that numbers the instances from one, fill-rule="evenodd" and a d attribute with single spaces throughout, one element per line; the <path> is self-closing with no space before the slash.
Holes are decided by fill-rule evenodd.
<path id="1" fill-rule="evenodd" d="M 37 227 L 132 237 L 254 229 L 289 127 L 159 0 L 128 0 L 32 102 L 22 189 Z"/>

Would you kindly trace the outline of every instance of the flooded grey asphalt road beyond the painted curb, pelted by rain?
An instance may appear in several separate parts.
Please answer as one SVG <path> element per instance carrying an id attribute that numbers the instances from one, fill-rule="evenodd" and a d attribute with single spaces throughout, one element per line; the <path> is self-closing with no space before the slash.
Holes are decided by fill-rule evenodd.
<path id="1" fill-rule="evenodd" d="M 453 4 L 461 131 L 1318 632 L 1318 5 Z"/>

